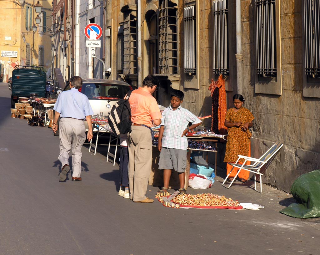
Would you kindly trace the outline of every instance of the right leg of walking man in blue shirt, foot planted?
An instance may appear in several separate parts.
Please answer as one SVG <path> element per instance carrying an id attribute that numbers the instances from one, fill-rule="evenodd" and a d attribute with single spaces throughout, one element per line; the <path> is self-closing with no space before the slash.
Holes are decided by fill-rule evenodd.
<path id="1" fill-rule="evenodd" d="M 82 158 L 82 145 L 85 142 L 85 127 L 83 120 L 73 120 L 73 141 L 72 141 L 72 177 L 80 178 L 81 175 L 81 158 Z M 76 179 L 81 180 L 81 179 Z"/>

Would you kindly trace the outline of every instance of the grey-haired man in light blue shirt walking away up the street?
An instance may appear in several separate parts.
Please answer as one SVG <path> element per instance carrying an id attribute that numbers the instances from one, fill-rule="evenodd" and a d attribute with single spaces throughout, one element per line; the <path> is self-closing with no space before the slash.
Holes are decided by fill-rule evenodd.
<path id="1" fill-rule="evenodd" d="M 60 138 L 60 154 L 58 159 L 61 162 L 60 182 L 64 182 L 70 170 L 69 154 L 72 152 L 72 181 L 81 181 L 81 148 L 85 141 L 84 119 L 88 123 L 88 141 L 92 139 L 91 115 L 93 114 L 89 100 L 86 95 L 78 91 L 82 86 L 82 78 L 73 76 L 70 78 L 70 90 L 63 91 L 58 96 L 53 110 L 55 110 L 52 130 L 58 130 Z"/>

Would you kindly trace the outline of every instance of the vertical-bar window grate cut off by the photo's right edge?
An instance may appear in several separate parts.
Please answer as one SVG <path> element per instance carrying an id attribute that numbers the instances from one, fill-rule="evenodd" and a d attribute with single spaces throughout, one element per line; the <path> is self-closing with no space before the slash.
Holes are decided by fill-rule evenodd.
<path id="1" fill-rule="evenodd" d="M 320 6 L 319 0 L 304 0 L 304 39 L 306 74 L 320 77 Z"/>

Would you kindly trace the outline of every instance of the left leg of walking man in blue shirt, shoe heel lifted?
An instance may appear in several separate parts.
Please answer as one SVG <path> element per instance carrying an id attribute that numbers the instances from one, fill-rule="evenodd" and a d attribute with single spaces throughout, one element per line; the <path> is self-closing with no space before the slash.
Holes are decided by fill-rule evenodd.
<path id="1" fill-rule="evenodd" d="M 67 118 L 61 118 L 59 122 L 60 154 L 58 159 L 61 162 L 60 181 L 65 181 L 69 167 L 69 154 L 71 150 L 71 140 L 73 136 L 72 126 Z"/>

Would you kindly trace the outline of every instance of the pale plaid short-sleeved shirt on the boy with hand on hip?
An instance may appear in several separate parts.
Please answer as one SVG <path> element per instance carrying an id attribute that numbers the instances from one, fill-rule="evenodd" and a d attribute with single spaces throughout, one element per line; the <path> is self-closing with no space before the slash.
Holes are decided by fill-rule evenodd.
<path id="1" fill-rule="evenodd" d="M 194 114 L 187 109 L 179 106 L 175 111 L 169 106 L 162 113 L 161 126 L 164 126 L 162 136 L 162 147 L 187 150 L 188 138 L 182 136 L 182 133 L 188 127 L 189 122 L 192 124 L 200 123 Z"/>

